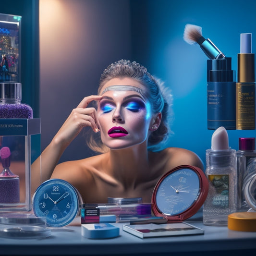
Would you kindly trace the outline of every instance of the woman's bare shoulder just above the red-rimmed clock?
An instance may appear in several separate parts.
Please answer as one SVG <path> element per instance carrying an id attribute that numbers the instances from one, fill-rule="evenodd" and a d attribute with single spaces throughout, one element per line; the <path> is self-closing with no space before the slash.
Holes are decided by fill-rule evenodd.
<path id="1" fill-rule="evenodd" d="M 159 154 L 161 154 L 163 159 L 166 159 L 166 165 L 169 169 L 179 165 L 193 165 L 204 170 L 202 160 L 190 150 L 179 147 L 168 147 L 160 151 Z"/>

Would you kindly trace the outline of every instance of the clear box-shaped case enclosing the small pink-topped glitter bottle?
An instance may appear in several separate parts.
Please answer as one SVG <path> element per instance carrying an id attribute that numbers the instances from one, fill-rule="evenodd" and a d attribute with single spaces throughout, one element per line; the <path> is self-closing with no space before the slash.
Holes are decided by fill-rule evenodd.
<path id="1" fill-rule="evenodd" d="M 32 209 L 31 176 L 40 177 L 41 170 L 31 173 L 31 164 L 40 156 L 40 135 L 39 118 L 0 119 L 0 213 Z M 9 154 L 3 152 L 5 148 Z"/>

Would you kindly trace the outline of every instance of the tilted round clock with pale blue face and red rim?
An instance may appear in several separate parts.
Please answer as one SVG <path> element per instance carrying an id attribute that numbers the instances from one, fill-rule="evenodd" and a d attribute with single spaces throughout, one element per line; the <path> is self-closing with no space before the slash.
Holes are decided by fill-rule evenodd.
<path id="1" fill-rule="evenodd" d="M 177 216 L 177 220 L 187 219 L 203 205 L 207 191 L 208 181 L 203 171 L 178 167 L 158 181 L 153 193 L 153 212 L 156 216 L 170 216 L 168 219 L 172 216 Z"/>

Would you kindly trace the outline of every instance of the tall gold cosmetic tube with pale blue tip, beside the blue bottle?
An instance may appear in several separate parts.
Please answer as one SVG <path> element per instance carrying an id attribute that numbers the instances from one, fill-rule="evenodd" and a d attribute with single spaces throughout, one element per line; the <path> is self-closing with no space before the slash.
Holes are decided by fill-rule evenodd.
<path id="1" fill-rule="evenodd" d="M 252 53 L 252 34 L 241 34 L 237 54 L 236 129 L 255 129 L 255 54 Z"/>

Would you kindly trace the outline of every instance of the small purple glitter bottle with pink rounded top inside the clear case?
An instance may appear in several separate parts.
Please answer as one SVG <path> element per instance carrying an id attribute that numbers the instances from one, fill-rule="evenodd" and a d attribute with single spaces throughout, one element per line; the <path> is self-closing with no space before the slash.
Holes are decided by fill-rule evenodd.
<path id="1" fill-rule="evenodd" d="M 20 180 L 19 176 L 10 170 L 11 164 L 10 148 L 5 146 L 0 149 L 3 171 L 0 173 L 0 203 L 20 202 Z"/>

